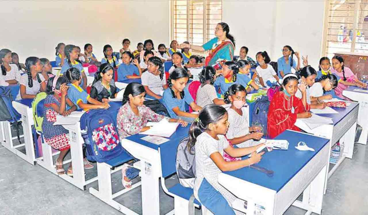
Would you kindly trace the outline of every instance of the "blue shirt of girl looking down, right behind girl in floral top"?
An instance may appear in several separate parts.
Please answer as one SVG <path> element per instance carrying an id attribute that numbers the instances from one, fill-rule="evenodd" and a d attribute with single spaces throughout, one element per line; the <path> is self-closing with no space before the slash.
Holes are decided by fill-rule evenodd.
<path id="1" fill-rule="evenodd" d="M 181 111 L 185 112 L 185 103 L 189 105 L 192 102 L 194 102 L 194 100 L 187 88 L 184 88 L 183 99 L 173 98 L 173 94 L 171 94 L 170 88 L 167 88 L 162 95 L 162 103 L 169 112 L 171 118 L 178 118 L 176 113 L 173 111 L 173 108 L 179 107 Z"/>

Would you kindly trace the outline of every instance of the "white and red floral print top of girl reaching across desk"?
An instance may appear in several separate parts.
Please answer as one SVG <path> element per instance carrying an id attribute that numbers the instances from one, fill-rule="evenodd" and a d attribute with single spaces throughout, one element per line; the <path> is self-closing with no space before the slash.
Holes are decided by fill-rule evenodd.
<path id="1" fill-rule="evenodd" d="M 153 112 L 145 105 L 138 106 L 138 111 L 139 116 L 133 113 L 128 102 L 119 109 L 116 123 L 120 139 L 137 134 L 146 126 L 148 121 L 159 122 L 165 118 L 165 116 Z"/>

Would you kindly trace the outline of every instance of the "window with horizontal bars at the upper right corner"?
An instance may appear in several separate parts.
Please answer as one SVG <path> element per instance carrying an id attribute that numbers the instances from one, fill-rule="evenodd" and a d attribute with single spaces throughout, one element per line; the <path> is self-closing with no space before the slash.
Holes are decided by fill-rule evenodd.
<path id="1" fill-rule="evenodd" d="M 325 56 L 368 53 L 368 0 L 330 0 L 327 10 Z"/>

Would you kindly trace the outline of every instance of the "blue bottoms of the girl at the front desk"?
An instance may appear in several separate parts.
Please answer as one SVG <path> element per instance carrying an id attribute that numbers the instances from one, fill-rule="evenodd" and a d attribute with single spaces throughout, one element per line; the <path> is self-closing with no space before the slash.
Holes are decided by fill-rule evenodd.
<path id="1" fill-rule="evenodd" d="M 198 189 L 198 198 L 212 214 L 235 215 L 226 199 L 205 178 Z"/>

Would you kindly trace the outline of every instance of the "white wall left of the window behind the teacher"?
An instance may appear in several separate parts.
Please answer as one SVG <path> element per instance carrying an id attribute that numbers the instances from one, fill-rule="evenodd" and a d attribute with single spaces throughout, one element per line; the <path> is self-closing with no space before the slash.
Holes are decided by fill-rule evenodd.
<path id="1" fill-rule="evenodd" d="M 102 48 L 114 51 L 127 37 L 131 50 L 152 39 L 169 43 L 169 1 L 1 1 L 0 49 L 17 52 L 20 62 L 29 56 L 55 60 L 57 43 L 93 45 L 101 59 Z"/>

